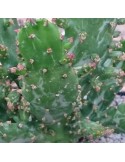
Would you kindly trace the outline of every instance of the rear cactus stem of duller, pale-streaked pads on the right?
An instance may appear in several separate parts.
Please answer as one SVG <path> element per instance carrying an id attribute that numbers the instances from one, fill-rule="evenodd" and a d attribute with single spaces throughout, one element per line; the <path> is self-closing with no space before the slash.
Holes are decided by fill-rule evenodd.
<path id="1" fill-rule="evenodd" d="M 82 115 L 101 122 L 102 112 L 107 111 L 124 83 L 123 46 L 112 42 L 119 20 L 57 19 L 56 22 L 65 29 L 66 39 L 74 40 L 69 52 L 76 56 L 73 65 L 82 87 Z"/>

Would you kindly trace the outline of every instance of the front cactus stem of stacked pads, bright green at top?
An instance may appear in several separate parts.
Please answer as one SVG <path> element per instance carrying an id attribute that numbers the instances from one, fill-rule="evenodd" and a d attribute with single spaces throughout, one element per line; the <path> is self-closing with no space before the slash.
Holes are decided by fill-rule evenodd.
<path id="1" fill-rule="evenodd" d="M 22 94 L 30 103 L 31 114 L 41 122 L 49 141 L 77 141 L 86 129 L 80 114 L 81 86 L 72 68 L 74 55 L 66 53 L 70 43 L 45 19 L 25 24 L 18 42 L 27 70 Z M 99 128 L 104 133 L 101 125 Z"/>

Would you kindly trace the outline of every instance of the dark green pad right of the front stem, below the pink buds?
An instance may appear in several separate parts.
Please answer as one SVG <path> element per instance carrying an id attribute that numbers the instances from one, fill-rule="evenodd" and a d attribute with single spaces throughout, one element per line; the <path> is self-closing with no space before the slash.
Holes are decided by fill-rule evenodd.
<path id="1" fill-rule="evenodd" d="M 115 93 L 120 90 L 124 83 L 124 78 L 119 76 L 120 71 L 115 70 L 110 69 L 110 67 L 109 69 L 97 67 L 95 70 L 91 70 L 91 74 L 82 72 L 80 84 L 83 85 L 83 114 L 89 117 L 92 115 L 93 118 L 95 114 L 111 104 Z"/>

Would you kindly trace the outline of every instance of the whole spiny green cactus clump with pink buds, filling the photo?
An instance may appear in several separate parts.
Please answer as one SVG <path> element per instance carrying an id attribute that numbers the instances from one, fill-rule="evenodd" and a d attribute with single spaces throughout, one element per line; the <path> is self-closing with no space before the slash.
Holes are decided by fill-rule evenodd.
<path id="1" fill-rule="evenodd" d="M 124 130 L 123 106 L 110 106 L 124 82 L 116 24 L 27 19 L 16 41 L 17 24 L 0 20 L 0 142 L 89 142 Z"/>

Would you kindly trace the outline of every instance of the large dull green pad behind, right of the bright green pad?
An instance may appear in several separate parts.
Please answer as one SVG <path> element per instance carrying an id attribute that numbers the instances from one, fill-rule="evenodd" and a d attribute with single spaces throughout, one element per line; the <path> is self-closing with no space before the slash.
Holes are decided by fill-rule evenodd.
<path id="1" fill-rule="evenodd" d="M 76 55 L 75 65 L 80 66 L 87 55 L 104 54 L 112 40 L 115 20 L 66 19 L 64 28 L 66 37 L 74 40 L 70 52 Z"/>

